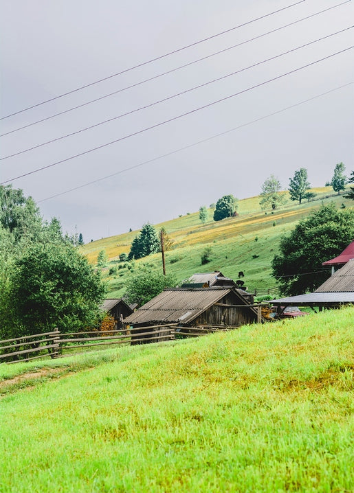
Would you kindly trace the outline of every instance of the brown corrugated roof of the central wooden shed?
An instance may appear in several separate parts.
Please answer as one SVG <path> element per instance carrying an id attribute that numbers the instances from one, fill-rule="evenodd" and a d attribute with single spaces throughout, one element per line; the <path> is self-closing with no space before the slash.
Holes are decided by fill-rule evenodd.
<path id="1" fill-rule="evenodd" d="M 188 323 L 231 291 L 241 303 L 248 304 L 232 288 L 166 289 L 126 317 L 124 323 Z"/>

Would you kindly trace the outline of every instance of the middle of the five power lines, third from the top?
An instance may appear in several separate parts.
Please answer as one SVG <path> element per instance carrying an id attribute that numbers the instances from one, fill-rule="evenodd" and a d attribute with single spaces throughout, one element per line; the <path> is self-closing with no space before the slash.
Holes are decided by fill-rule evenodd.
<path id="1" fill-rule="evenodd" d="M 119 118 L 122 118 L 122 117 L 125 117 L 127 115 L 131 115 L 132 113 L 137 113 L 137 111 L 142 111 L 142 110 L 144 110 L 146 108 L 151 108 L 151 106 L 155 106 L 156 104 L 160 104 L 162 102 L 166 102 L 166 101 L 172 100 L 173 98 L 177 98 L 177 96 L 190 93 L 191 91 L 195 91 L 196 89 L 200 89 L 201 87 L 205 87 L 205 86 L 207 86 L 209 84 L 213 84 L 214 82 L 219 82 L 220 80 L 223 80 L 225 78 L 234 76 L 237 73 L 241 73 L 241 72 L 243 72 L 245 70 L 249 70 L 249 69 L 252 69 L 254 67 L 257 67 L 258 65 L 262 65 L 265 62 L 269 62 L 271 60 L 276 60 L 276 58 L 280 58 L 280 56 L 284 56 L 284 55 L 287 55 L 289 53 L 292 53 L 293 51 L 296 51 L 298 49 L 302 49 L 302 48 L 307 47 L 309 45 L 313 45 L 313 43 L 318 43 L 318 41 L 323 41 L 324 39 L 331 38 L 331 36 L 335 36 L 336 34 L 341 34 L 342 32 L 351 30 L 351 29 L 353 29 L 353 27 L 354 27 L 354 25 L 351 25 L 351 27 L 346 27 L 343 30 L 340 30 L 340 31 L 337 31 L 337 32 L 328 34 L 327 36 L 323 36 L 322 38 L 318 38 L 318 39 L 316 39 L 314 41 L 310 41 L 309 43 L 305 43 L 305 45 L 301 45 L 301 46 L 298 46 L 296 48 L 289 49 L 288 51 L 284 51 L 283 53 L 280 53 L 279 55 L 272 56 L 270 58 L 267 58 L 266 60 L 262 60 L 261 62 L 254 63 L 253 65 L 250 65 L 249 67 L 245 67 L 243 69 L 236 70 L 236 71 L 234 71 L 232 73 L 228 73 L 225 76 L 222 76 L 222 77 L 219 77 L 219 78 L 210 80 L 208 82 L 204 82 L 203 84 L 199 84 L 198 86 L 192 87 L 190 89 L 186 89 L 186 91 L 181 91 L 180 93 L 177 93 L 177 94 L 168 96 L 167 98 L 164 98 L 162 100 L 155 101 L 155 102 L 153 102 L 151 104 L 146 104 L 145 106 L 140 106 L 140 108 L 135 108 L 134 110 L 128 111 L 126 113 L 122 113 L 121 115 L 118 115 L 118 116 L 115 116 L 115 117 L 106 119 L 103 122 L 99 122 L 97 124 L 93 124 L 93 125 L 87 126 L 85 128 L 81 128 L 80 130 L 76 130 L 76 132 L 71 132 L 69 134 L 62 135 L 61 137 L 56 137 L 56 139 L 51 139 L 49 141 L 43 142 L 42 144 L 37 144 L 36 146 L 32 146 L 32 147 L 27 148 L 25 150 L 21 150 L 19 152 L 14 152 L 14 154 L 9 154 L 8 156 L 1 157 L 0 158 L 0 161 L 3 161 L 4 159 L 9 159 L 10 157 L 19 156 L 19 154 L 23 154 L 25 152 L 29 152 L 30 150 L 34 150 L 34 149 L 38 149 L 38 148 L 43 147 L 43 146 L 47 146 L 48 144 L 52 144 L 53 142 L 56 142 L 56 141 L 59 141 L 59 140 L 62 140 L 62 139 L 66 139 L 67 137 L 72 137 L 73 135 L 77 135 L 78 133 L 85 132 L 86 130 L 91 130 L 92 128 L 96 128 L 97 126 L 100 126 L 100 125 L 103 125 L 103 124 L 107 124 L 109 122 L 113 122 L 114 120 L 119 119 Z"/>

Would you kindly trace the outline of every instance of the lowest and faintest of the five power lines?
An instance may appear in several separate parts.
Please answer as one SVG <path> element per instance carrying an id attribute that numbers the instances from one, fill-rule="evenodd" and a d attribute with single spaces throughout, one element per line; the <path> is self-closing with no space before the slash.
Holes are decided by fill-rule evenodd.
<path id="1" fill-rule="evenodd" d="M 265 115 L 263 117 L 259 117 L 257 119 L 254 119 L 254 120 L 252 120 L 252 122 L 247 122 L 245 124 L 236 126 L 234 128 L 230 128 L 230 130 L 225 130 L 225 132 L 218 133 L 217 135 L 212 135 L 211 137 L 208 137 L 206 139 L 194 142 L 193 144 L 189 144 L 188 146 L 184 146 L 184 147 L 181 147 L 179 149 L 172 150 L 170 152 L 167 152 L 166 154 L 162 154 L 161 156 L 154 157 L 153 159 L 148 159 L 148 161 L 143 161 L 142 163 L 135 164 L 133 166 L 130 166 L 129 168 L 124 168 L 124 170 L 120 170 L 120 171 L 117 171 L 115 173 L 108 174 L 107 176 L 102 176 L 101 178 L 98 178 L 98 179 L 93 180 L 93 181 L 89 181 L 88 183 L 84 183 L 83 185 L 78 185 L 78 187 L 71 188 L 70 190 L 65 190 L 65 192 L 60 192 L 58 194 L 49 196 L 47 198 L 42 198 L 41 200 L 37 200 L 37 203 L 45 202 L 45 200 L 50 200 L 51 198 L 56 198 L 58 196 L 68 194 L 69 192 L 74 192 L 76 190 L 80 190 L 80 188 L 84 188 L 84 187 L 87 187 L 89 185 L 93 185 L 94 183 L 98 183 L 99 181 L 107 180 L 109 178 L 112 178 L 113 176 L 117 176 L 118 174 L 126 173 L 127 171 L 135 170 L 136 168 L 140 168 L 141 166 L 144 166 L 146 164 L 153 163 L 155 161 L 158 161 L 159 159 L 163 159 L 164 157 L 168 157 L 168 156 L 171 156 L 173 154 L 177 154 L 177 152 L 181 152 L 183 150 L 187 150 L 189 148 L 199 146 L 199 144 L 204 144 L 205 142 L 208 142 L 212 139 L 217 139 L 217 137 L 221 137 L 222 135 L 227 135 L 228 133 L 234 132 L 235 130 L 239 130 L 239 128 L 243 128 L 245 126 L 254 124 L 256 122 L 261 122 L 263 119 L 272 117 L 274 115 L 278 115 L 279 113 L 283 113 L 284 111 L 287 111 L 291 108 L 296 108 L 296 106 L 300 106 L 300 104 L 305 104 L 309 101 L 321 98 L 322 96 L 327 95 L 329 93 L 333 93 L 334 91 L 339 91 L 340 89 L 343 89 L 344 87 L 348 87 L 351 84 L 354 84 L 354 82 L 348 82 L 348 84 L 344 84 L 340 87 L 335 87 L 335 89 L 330 89 L 329 91 L 326 91 L 325 93 L 318 94 L 318 95 L 313 96 L 312 98 L 309 98 L 307 100 L 300 101 L 296 104 L 291 104 L 291 106 L 287 106 L 287 108 L 282 108 L 281 110 L 274 111 L 274 113 L 269 113 L 269 115 Z"/>

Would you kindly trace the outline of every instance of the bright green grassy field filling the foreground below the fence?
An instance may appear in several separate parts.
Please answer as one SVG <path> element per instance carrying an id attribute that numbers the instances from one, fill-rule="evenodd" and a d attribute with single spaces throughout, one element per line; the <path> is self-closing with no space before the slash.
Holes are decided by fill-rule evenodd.
<path id="1" fill-rule="evenodd" d="M 353 492 L 353 314 L 0 365 L 0 492 Z"/>

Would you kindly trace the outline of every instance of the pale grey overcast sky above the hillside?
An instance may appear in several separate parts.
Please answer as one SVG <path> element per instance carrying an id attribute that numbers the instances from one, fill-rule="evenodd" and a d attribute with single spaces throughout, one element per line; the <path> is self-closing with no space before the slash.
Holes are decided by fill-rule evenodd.
<path id="1" fill-rule="evenodd" d="M 300 168 L 313 187 L 339 162 L 349 176 L 353 13 L 344 0 L 1 2 L 0 183 L 89 242 L 256 196 L 271 174 L 284 190 Z"/>

